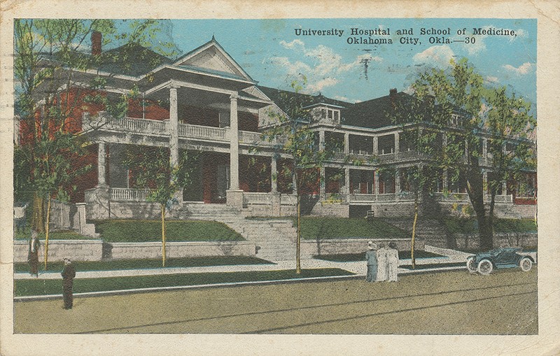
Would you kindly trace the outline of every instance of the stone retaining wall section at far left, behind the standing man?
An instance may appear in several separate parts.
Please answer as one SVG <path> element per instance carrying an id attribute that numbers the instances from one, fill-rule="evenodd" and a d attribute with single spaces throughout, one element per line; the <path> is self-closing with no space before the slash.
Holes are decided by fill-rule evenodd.
<path id="1" fill-rule="evenodd" d="M 27 262 L 29 241 L 13 241 L 13 261 Z M 102 259 L 103 241 L 101 240 L 49 240 L 48 260 L 50 262 L 62 261 L 69 257 L 75 261 L 99 261 Z M 45 241 L 41 240 L 39 250 L 39 262 L 43 261 L 45 253 Z"/>

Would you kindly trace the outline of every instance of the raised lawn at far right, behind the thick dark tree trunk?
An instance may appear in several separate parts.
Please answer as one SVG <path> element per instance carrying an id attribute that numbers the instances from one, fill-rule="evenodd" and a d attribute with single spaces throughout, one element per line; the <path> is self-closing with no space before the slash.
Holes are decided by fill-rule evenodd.
<path id="1" fill-rule="evenodd" d="M 474 218 L 447 218 L 445 226 L 451 234 L 476 234 L 478 232 L 477 220 Z M 533 219 L 494 219 L 494 232 L 537 232 L 537 224 Z"/>

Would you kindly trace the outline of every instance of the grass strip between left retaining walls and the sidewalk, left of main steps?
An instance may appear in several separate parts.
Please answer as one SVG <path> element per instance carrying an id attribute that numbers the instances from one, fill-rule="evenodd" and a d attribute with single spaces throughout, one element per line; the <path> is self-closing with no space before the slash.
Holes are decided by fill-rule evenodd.
<path id="1" fill-rule="evenodd" d="M 48 271 L 62 271 L 64 262 L 50 262 Z M 116 271 L 123 269 L 154 269 L 162 268 L 161 259 L 118 259 L 113 261 L 77 261 L 73 262 L 76 271 Z M 235 266 L 239 264 L 272 264 L 256 257 L 248 256 L 210 256 L 210 257 L 181 257 L 165 259 L 165 268 L 173 267 L 201 267 L 201 266 Z M 39 271 L 44 271 L 43 264 L 39 264 Z M 28 272 L 27 263 L 15 263 L 14 272 Z"/>

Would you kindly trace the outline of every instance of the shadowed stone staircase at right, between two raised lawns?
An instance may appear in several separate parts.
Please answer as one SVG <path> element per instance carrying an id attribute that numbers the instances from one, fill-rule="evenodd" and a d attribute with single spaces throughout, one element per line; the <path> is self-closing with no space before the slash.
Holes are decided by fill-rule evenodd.
<path id="1" fill-rule="evenodd" d="M 384 219 L 385 222 L 409 232 L 412 236 L 412 223 L 414 219 Z M 438 248 L 449 248 L 447 229 L 435 219 L 421 218 L 416 221 L 416 238 L 426 241 L 426 245 Z"/>

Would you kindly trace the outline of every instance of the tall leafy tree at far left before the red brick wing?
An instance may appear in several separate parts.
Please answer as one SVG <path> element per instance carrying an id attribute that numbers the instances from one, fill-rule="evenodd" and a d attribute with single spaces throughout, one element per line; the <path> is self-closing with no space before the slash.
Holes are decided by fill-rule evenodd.
<path id="1" fill-rule="evenodd" d="M 76 166 L 87 145 L 80 135 L 78 109 L 88 95 L 102 86 L 95 78 L 91 86 L 75 83 L 83 82 L 86 69 L 100 68 L 104 63 L 127 63 L 122 54 L 126 51 L 108 55 L 83 52 L 87 38 L 93 31 L 99 31 L 104 36 L 104 45 L 167 43 L 155 38 L 160 22 L 137 20 L 130 22 L 129 27 L 126 30 L 115 20 L 14 21 L 15 114 L 21 126 L 20 142 L 14 153 L 18 157 L 14 165 L 14 195 L 15 199 L 32 196 L 32 228 L 46 233 L 45 269 L 50 199 L 68 200 L 75 189 L 71 184 L 74 178 L 91 168 L 87 164 Z M 160 47 L 172 49 L 167 44 Z M 123 108 L 118 103 L 105 103 L 105 108 L 113 105 Z"/>

